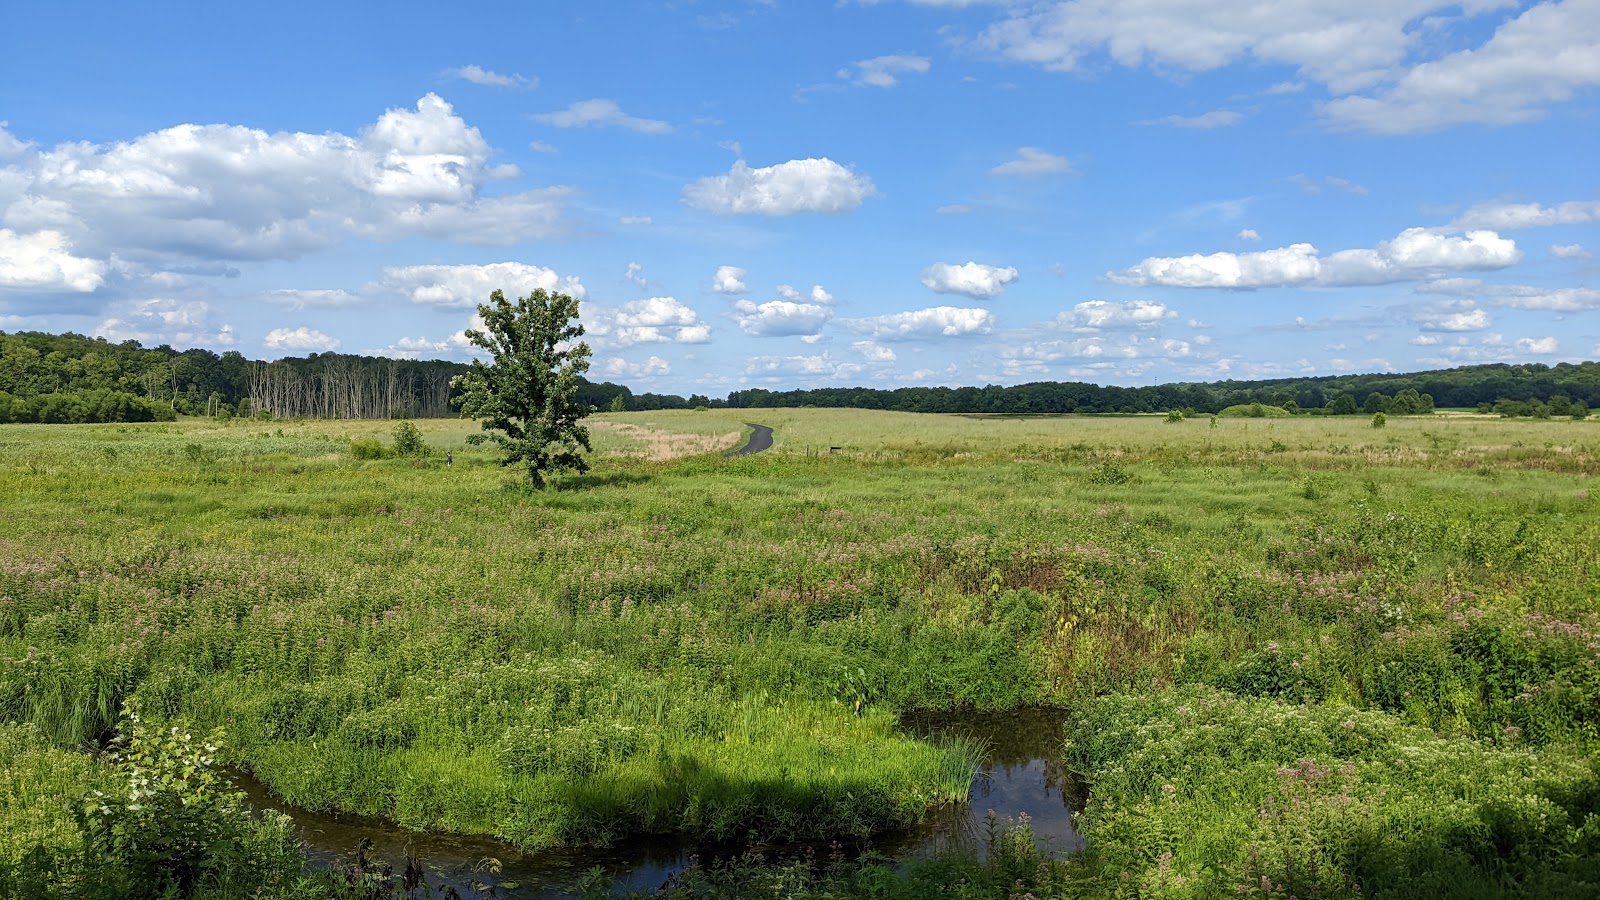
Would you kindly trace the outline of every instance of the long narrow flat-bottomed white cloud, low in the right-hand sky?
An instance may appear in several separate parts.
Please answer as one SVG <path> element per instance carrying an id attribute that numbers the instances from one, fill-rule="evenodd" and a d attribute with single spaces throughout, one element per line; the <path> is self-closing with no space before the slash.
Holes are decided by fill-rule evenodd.
<path id="1" fill-rule="evenodd" d="M 1106 277 L 1123 285 L 1187 288 L 1381 285 L 1440 272 L 1504 269 L 1518 261 L 1522 250 L 1517 243 L 1493 231 L 1451 235 L 1413 227 L 1370 250 L 1341 250 L 1320 256 L 1310 243 L 1293 243 L 1254 253 L 1150 256 L 1131 269 L 1107 272 Z"/>

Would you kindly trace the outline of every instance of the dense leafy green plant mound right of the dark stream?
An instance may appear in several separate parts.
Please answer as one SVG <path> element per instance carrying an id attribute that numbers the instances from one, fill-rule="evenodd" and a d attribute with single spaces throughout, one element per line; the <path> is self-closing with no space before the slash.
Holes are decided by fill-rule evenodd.
<path id="1" fill-rule="evenodd" d="M 1574 897 L 1600 777 L 1566 749 L 1438 737 L 1386 713 L 1211 689 L 1078 708 L 1093 862 L 1141 895 Z"/>

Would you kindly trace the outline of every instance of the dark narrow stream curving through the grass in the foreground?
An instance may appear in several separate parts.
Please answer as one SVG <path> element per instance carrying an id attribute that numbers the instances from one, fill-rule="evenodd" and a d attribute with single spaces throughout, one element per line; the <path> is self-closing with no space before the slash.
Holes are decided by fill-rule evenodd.
<path id="1" fill-rule="evenodd" d="M 982 855 L 989 817 L 1030 818 L 1038 844 L 1054 854 L 1083 849 L 1072 823 L 1083 809 L 1083 786 L 1061 762 L 1062 709 L 1008 713 L 918 713 L 902 719 L 902 729 L 920 737 L 963 735 L 979 741 L 984 761 L 966 804 L 930 810 L 928 820 L 907 833 L 880 834 L 870 842 L 818 842 L 755 847 L 766 858 L 829 858 L 862 850 L 890 857 L 971 850 Z M 472 882 L 496 886 L 496 897 L 554 900 L 578 895 L 578 882 L 594 868 L 627 889 L 659 887 L 691 862 L 709 863 L 739 857 L 750 847 L 691 842 L 675 838 L 635 838 L 605 849 L 541 850 L 525 854 L 488 836 L 408 831 L 397 825 L 355 815 L 307 812 L 285 806 L 259 781 L 242 775 L 240 788 L 258 809 L 288 814 L 299 828 L 312 865 L 349 860 L 357 844 L 371 841 L 368 858 L 405 870 L 410 852 L 426 868 L 434 886 L 448 884 L 470 897 Z"/>

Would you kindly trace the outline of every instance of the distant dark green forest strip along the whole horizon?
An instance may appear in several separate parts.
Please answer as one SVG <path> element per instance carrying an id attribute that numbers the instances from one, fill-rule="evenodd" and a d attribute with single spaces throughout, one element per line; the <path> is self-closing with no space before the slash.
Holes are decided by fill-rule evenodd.
<path id="1" fill-rule="evenodd" d="M 438 418 L 454 415 L 450 380 L 467 367 L 350 354 L 275 362 L 235 351 L 144 348 L 83 335 L 0 331 L 0 423 L 160 421 L 178 415 L 274 418 Z M 1574 415 L 1600 405 L 1600 364 L 1469 365 L 1406 375 L 1331 375 L 1264 381 L 1117 388 L 1035 381 L 1002 388 L 814 388 L 635 394 L 584 381 L 602 410 L 694 407 L 859 407 L 918 413 L 1216 413 L 1262 404 L 1310 415 L 1421 413 L 1435 407 L 1501 415 Z"/>

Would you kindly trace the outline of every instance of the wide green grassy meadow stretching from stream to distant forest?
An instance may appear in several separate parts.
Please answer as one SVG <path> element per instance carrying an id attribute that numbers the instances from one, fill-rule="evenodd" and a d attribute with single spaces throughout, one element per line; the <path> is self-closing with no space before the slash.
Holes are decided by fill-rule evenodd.
<path id="1" fill-rule="evenodd" d="M 128 698 L 291 804 L 523 847 L 906 826 L 974 749 L 902 711 L 1058 705 L 1091 850 L 1000 897 L 1600 884 L 1597 423 L 592 421 L 541 493 L 461 421 L 0 428 L 0 865 L 74 844 Z"/>

